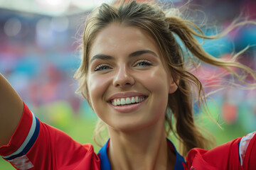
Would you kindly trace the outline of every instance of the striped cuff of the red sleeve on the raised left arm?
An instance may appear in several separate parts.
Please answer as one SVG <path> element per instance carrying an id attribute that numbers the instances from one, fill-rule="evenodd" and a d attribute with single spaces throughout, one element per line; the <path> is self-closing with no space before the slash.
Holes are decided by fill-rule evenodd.
<path id="1" fill-rule="evenodd" d="M 8 145 L 0 147 L 1 156 L 16 169 L 31 169 L 33 163 L 26 154 L 31 149 L 39 134 L 38 118 L 24 104 L 21 121 L 12 135 Z"/>

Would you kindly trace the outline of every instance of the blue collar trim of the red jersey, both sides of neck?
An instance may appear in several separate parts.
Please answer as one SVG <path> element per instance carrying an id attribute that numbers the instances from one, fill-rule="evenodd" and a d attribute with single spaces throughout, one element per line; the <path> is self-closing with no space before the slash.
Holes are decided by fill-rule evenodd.
<path id="1" fill-rule="evenodd" d="M 176 148 L 174 147 L 174 144 L 167 139 L 168 141 L 168 145 L 169 147 L 173 148 L 175 153 L 176 153 L 176 162 L 175 162 L 175 166 L 174 166 L 174 170 L 183 170 L 183 163 L 185 163 L 184 158 L 178 154 L 178 152 L 176 151 Z M 110 160 L 107 157 L 107 148 L 110 145 L 110 140 L 107 140 L 107 142 L 105 143 L 105 145 L 100 149 L 98 155 L 100 157 L 100 169 L 101 170 L 111 170 L 111 166 L 110 166 Z"/>

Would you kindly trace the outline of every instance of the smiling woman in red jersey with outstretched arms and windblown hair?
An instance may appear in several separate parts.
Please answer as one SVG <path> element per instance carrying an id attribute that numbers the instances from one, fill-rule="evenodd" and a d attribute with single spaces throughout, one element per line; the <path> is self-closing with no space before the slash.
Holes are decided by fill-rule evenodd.
<path id="1" fill-rule="evenodd" d="M 191 26 L 201 31 L 175 13 L 165 14 L 145 3 L 102 4 L 87 20 L 82 62 L 75 78 L 79 81 L 78 93 L 107 125 L 110 140 L 95 154 L 92 145 L 80 145 L 60 130 L 42 123 L 1 76 L 2 157 L 16 169 L 254 167 L 255 133 L 204 150 L 210 142 L 193 121 L 191 92 L 191 86 L 196 85 L 198 102 L 203 107 L 203 87 L 186 69 L 186 56 L 174 34 L 193 57 L 228 69 L 242 82 L 242 77 L 231 67 L 244 69 L 254 79 L 256 76 L 250 68 L 233 60 L 222 61 L 208 55 L 193 35 L 208 37 Z M 186 162 L 166 139 L 170 131 L 178 135 L 182 154 L 187 154 Z"/>

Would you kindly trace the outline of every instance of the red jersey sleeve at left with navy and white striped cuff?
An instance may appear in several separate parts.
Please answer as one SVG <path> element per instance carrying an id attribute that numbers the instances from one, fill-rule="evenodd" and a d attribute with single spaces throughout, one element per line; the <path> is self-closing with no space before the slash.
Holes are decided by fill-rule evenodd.
<path id="1" fill-rule="evenodd" d="M 24 103 L 20 123 L 0 155 L 16 169 L 99 169 L 92 145 L 81 145 L 65 132 L 42 123 Z"/>

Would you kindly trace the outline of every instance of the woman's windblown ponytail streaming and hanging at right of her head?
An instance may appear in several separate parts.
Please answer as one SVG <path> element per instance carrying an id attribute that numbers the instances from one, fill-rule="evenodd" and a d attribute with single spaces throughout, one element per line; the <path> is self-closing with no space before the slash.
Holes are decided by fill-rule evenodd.
<path id="1" fill-rule="evenodd" d="M 223 33 L 208 37 L 206 35 L 203 35 L 203 31 L 200 28 L 198 28 L 196 25 L 189 21 L 174 16 L 166 18 L 166 21 L 169 23 L 170 34 L 174 33 L 178 35 L 178 38 L 181 39 L 181 42 L 183 42 L 186 49 L 191 52 L 193 57 L 196 57 L 199 61 L 205 62 L 207 64 L 211 64 L 216 67 L 222 67 L 223 69 L 228 70 L 230 74 L 234 74 L 235 77 L 237 77 L 238 80 L 241 81 L 243 84 L 246 84 L 248 86 L 255 86 L 255 84 L 247 84 L 247 82 L 245 82 L 245 77 L 241 77 L 231 68 L 238 67 L 240 69 L 243 69 L 247 73 L 249 73 L 254 79 L 256 79 L 256 75 L 252 71 L 252 69 L 246 67 L 243 64 L 235 62 L 235 58 L 238 57 L 238 55 L 235 55 L 229 61 L 215 58 L 209 55 L 205 50 L 203 50 L 203 48 L 195 38 L 195 35 L 200 38 L 207 39 L 220 38 L 233 28 L 245 23 L 234 23 L 228 28 L 228 30 L 223 31 Z M 250 23 L 254 22 L 250 21 Z M 256 22 L 254 24 L 256 24 Z M 198 30 L 199 33 L 193 30 L 193 28 Z M 204 137 L 201 132 L 198 131 L 198 127 L 196 127 L 195 125 L 192 108 L 193 96 L 191 96 L 191 94 L 193 93 L 190 87 L 196 85 L 198 91 L 198 94 L 196 95 L 198 97 L 198 106 L 199 108 L 201 108 L 202 111 L 204 110 L 206 113 L 209 113 L 206 103 L 206 94 L 203 90 L 203 85 L 201 84 L 201 81 L 199 81 L 197 77 L 191 74 L 191 72 L 188 72 L 188 70 L 186 70 L 186 68 L 183 66 L 184 56 L 182 56 L 183 50 L 181 50 L 181 47 L 178 44 L 174 43 L 172 45 L 175 45 L 176 49 L 179 49 L 178 55 L 181 55 L 179 56 L 179 58 L 181 58 L 182 60 L 180 60 L 181 62 L 175 64 L 169 63 L 169 69 L 171 69 L 172 74 L 178 75 L 173 78 L 177 79 L 178 77 L 179 84 L 177 84 L 177 91 L 174 94 L 169 94 L 168 109 L 170 111 L 166 111 L 166 123 L 169 125 L 167 133 L 169 133 L 169 131 L 174 131 L 170 115 L 171 113 L 173 113 L 174 118 L 176 119 L 176 134 L 178 135 L 178 140 L 180 141 L 181 154 L 186 155 L 188 151 L 193 147 L 210 149 L 210 147 L 213 147 L 213 145 L 215 145 L 215 140 L 214 137 L 211 135 L 210 140 L 206 139 L 206 137 Z"/>

